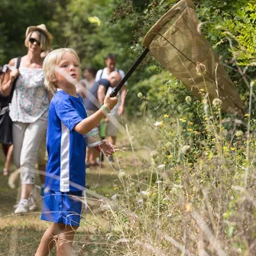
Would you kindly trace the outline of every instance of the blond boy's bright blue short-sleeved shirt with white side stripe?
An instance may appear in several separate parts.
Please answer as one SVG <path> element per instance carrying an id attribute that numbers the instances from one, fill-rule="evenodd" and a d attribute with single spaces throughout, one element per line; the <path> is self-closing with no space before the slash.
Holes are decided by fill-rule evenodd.
<path id="1" fill-rule="evenodd" d="M 58 90 L 50 102 L 46 186 L 53 191 L 85 190 L 86 143 L 73 128 L 87 117 L 83 99 Z"/>

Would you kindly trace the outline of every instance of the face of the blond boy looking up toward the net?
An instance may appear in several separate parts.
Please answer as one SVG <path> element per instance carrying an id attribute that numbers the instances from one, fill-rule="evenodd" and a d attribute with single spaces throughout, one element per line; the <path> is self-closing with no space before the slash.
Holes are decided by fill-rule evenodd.
<path id="1" fill-rule="evenodd" d="M 64 53 L 55 72 L 57 87 L 73 88 L 80 79 L 79 61 L 71 53 Z"/>

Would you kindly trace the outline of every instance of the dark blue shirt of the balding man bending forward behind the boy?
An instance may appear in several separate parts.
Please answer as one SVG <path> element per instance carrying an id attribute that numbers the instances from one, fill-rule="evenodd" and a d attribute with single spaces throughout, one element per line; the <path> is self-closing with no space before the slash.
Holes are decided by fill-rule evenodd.
<path id="1" fill-rule="evenodd" d="M 99 79 L 99 81 L 93 83 L 92 87 L 89 89 L 88 96 L 86 96 L 86 99 L 84 99 L 85 107 L 87 110 L 98 110 L 99 102 L 98 102 L 98 89 L 99 86 L 104 86 L 105 91 L 108 90 L 110 86 L 110 82 L 108 79 Z M 92 94 L 92 96 L 91 96 Z"/>

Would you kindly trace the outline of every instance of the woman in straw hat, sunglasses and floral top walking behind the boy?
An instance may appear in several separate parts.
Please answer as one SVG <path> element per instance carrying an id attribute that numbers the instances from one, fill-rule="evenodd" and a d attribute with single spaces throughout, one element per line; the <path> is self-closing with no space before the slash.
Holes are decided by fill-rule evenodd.
<path id="1" fill-rule="evenodd" d="M 14 160 L 21 171 L 21 199 L 15 214 L 35 209 L 30 202 L 40 199 L 41 189 L 34 185 L 35 164 L 39 147 L 45 140 L 49 108 L 42 70 L 44 58 L 41 53 L 50 48 L 52 40 L 53 37 L 44 24 L 28 27 L 24 42 L 28 53 L 21 57 L 19 70 L 15 69 L 17 58 L 10 60 L 1 86 L 2 94 L 8 96 L 13 81 L 18 77 L 10 106 Z"/>

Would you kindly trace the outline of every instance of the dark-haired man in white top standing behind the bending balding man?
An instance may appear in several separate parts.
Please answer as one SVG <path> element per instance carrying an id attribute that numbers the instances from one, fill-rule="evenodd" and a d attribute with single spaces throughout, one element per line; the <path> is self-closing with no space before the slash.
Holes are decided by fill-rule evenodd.
<path id="1" fill-rule="evenodd" d="M 109 74 L 113 71 L 116 71 L 120 74 L 122 78 L 124 78 L 125 73 L 123 70 L 119 70 L 116 68 L 117 63 L 117 57 L 115 54 L 109 53 L 105 57 L 105 68 L 102 70 L 99 70 L 96 74 L 96 82 L 99 79 L 107 79 Z M 115 105 L 115 108 L 112 109 L 110 114 L 108 115 L 109 118 L 106 118 L 106 128 L 105 128 L 105 135 L 107 138 L 109 138 L 109 142 L 112 144 L 116 144 L 116 138 L 118 129 L 116 128 L 115 124 L 111 121 L 111 119 L 115 118 L 117 121 L 120 121 L 120 116 L 123 114 L 125 109 L 125 96 L 127 93 L 127 83 L 125 83 L 125 86 L 122 86 L 121 91 L 119 92 L 119 98 L 118 98 L 118 104 Z M 115 87 L 109 86 L 109 89 L 107 90 L 106 94 L 111 93 Z M 113 157 L 109 157 L 109 161 L 113 161 Z"/>

